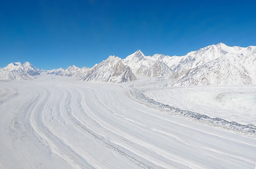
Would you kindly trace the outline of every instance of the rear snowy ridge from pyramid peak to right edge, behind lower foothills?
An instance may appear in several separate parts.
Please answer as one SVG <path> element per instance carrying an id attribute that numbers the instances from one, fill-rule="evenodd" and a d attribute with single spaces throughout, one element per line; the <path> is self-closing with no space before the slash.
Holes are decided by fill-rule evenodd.
<path id="1" fill-rule="evenodd" d="M 238 47 L 233 46 L 229 47 L 223 43 L 219 43 L 217 45 L 209 45 L 207 47 L 203 47 L 196 51 L 191 51 L 184 56 L 168 56 L 163 54 L 154 54 L 151 56 L 145 56 L 140 50 L 135 53 L 127 56 L 123 63 L 131 67 L 133 72 L 145 73 L 149 68 L 151 68 L 156 61 L 165 63 L 169 68 L 178 71 L 179 74 L 183 74 L 188 69 L 193 69 L 198 66 L 202 66 L 205 63 L 208 63 L 211 60 L 223 57 L 223 56 L 231 56 L 231 55 L 247 55 L 254 54 L 256 51 L 255 46 L 249 47 Z M 143 66 L 141 66 L 143 65 Z"/>

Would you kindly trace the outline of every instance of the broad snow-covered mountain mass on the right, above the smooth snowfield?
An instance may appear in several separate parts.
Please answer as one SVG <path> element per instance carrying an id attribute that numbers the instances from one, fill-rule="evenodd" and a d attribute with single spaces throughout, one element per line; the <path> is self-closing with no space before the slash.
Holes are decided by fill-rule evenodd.
<path id="1" fill-rule="evenodd" d="M 180 71 L 178 85 L 256 84 L 255 46 L 211 45 L 190 52 L 180 65 L 188 69 Z"/>

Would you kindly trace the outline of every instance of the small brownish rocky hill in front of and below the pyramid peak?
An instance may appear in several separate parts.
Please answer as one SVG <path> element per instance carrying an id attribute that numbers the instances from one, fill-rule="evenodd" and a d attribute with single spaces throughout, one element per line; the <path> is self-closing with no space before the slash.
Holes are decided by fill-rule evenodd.
<path id="1" fill-rule="evenodd" d="M 137 70 L 136 74 L 141 74 L 144 76 L 158 77 L 158 76 L 171 76 L 174 73 L 165 63 L 156 61 L 154 65 L 150 68 L 145 65 Z"/>

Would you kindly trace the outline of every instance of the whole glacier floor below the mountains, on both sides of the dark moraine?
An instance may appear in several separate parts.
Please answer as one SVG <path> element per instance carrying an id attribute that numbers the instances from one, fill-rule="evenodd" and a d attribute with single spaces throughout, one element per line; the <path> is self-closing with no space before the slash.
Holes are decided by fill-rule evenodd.
<path id="1" fill-rule="evenodd" d="M 254 169 L 256 87 L 167 81 L 1 81 L 0 168 Z"/>

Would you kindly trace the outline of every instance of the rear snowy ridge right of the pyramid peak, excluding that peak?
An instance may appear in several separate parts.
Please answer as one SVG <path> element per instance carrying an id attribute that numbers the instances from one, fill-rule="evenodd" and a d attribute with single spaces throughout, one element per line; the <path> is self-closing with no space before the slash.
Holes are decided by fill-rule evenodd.
<path id="1" fill-rule="evenodd" d="M 184 56 L 168 56 L 163 54 L 154 54 L 152 57 L 145 57 L 147 58 L 147 60 L 149 60 L 149 63 L 151 64 L 147 65 L 144 63 L 144 65 L 146 65 L 147 67 L 151 67 L 151 65 L 153 65 L 156 61 L 159 61 L 168 65 L 168 67 L 170 67 L 175 72 L 178 71 L 179 74 L 183 74 L 188 69 L 193 69 L 195 67 L 202 66 L 205 63 L 208 63 L 209 61 L 220 57 L 230 57 L 233 55 L 246 56 L 255 53 L 255 46 L 230 47 L 223 43 L 219 43 L 217 45 L 209 45 L 207 47 L 203 47 L 196 51 L 191 51 Z M 131 66 L 132 65 L 133 64 L 131 64 Z"/>

